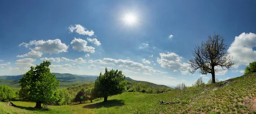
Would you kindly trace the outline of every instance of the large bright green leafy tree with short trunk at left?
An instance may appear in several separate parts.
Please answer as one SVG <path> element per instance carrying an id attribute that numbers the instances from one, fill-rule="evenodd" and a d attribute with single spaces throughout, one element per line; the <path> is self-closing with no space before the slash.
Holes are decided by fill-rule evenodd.
<path id="1" fill-rule="evenodd" d="M 44 61 L 39 66 L 31 66 L 20 79 L 19 95 L 22 100 L 36 102 L 35 108 L 42 108 L 41 103 L 49 104 L 58 101 L 57 88 L 59 80 L 50 72 L 49 61 Z"/>

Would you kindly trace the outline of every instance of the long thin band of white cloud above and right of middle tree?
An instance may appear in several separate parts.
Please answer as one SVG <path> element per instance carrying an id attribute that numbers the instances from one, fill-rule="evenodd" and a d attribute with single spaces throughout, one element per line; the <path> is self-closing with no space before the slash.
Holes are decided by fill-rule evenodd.
<path id="1" fill-rule="evenodd" d="M 132 60 L 122 60 L 122 59 L 115 60 L 112 58 L 104 58 L 103 60 L 94 60 L 94 61 L 89 60 L 89 63 L 112 64 L 115 66 L 127 67 L 133 70 L 143 71 L 143 72 L 160 73 L 160 74 L 167 73 L 163 71 L 154 70 L 154 68 L 152 68 L 151 66 L 144 66 L 143 64 L 134 62 Z"/>

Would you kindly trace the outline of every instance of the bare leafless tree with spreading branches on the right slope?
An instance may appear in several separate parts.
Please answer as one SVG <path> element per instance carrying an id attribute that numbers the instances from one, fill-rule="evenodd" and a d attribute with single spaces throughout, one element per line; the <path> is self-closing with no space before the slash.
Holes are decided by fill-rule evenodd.
<path id="1" fill-rule="evenodd" d="M 189 59 L 190 73 L 195 73 L 199 69 L 201 74 L 212 74 L 212 83 L 215 83 L 214 67 L 221 67 L 223 70 L 229 70 L 233 65 L 233 57 L 227 54 L 227 45 L 224 43 L 222 35 L 215 34 L 208 36 L 206 42 L 201 46 L 195 46 L 192 51 L 194 58 Z"/>

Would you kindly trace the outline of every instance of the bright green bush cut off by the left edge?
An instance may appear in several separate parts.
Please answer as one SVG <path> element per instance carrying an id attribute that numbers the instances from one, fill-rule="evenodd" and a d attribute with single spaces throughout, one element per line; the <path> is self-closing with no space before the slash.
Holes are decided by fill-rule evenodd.
<path id="1" fill-rule="evenodd" d="M 6 102 L 17 98 L 15 92 L 7 85 L 0 85 L 0 102 Z"/>

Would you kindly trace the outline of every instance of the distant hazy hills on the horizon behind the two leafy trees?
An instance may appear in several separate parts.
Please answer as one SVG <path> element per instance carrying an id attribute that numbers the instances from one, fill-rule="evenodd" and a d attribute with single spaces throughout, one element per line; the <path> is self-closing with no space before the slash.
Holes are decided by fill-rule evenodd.
<path id="1" fill-rule="evenodd" d="M 93 83 L 98 77 L 96 75 L 79 75 L 79 74 L 69 74 L 69 73 L 52 73 L 52 74 L 55 74 L 56 78 L 60 80 L 59 88 L 70 87 L 70 86 L 79 85 L 82 83 Z M 22 77 L 23 75 L 0 76 L 0 84 L 8 85 L 11 88 L 20 88 L 19 80 Z M 157 84 L 146 82 L 146 81 L 133 80 L 130 77 L 126 77 L 125 80 L 136 82 L 136 83 L 145 83 L 153 87 L 165 86 L 165 85 L 157 85 Z"/>

